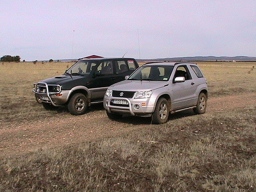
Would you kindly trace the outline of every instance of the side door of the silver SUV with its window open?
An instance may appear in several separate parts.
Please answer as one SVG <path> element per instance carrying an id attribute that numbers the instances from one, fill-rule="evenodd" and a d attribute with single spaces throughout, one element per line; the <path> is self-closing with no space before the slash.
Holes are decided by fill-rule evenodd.
<path id="1" fill-rule="evenodd" d="M 175 66 L 172 75 L 172 110 L 186 108 L 194 105 L 196 86 L 194 79 L 185 64 Z M 185 78 L 184 82 L 174 82 L 178 76 Z"/>

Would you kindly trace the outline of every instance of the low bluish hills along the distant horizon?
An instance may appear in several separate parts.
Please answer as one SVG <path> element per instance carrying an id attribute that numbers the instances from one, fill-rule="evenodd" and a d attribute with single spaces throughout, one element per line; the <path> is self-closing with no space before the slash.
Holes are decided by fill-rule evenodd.
<path id="1" fill-rule="evenodd" d="M 70 62 L 77 61 L 78 59 L 56 59 L 55 61 L 60 62 Z M 248 57 L 248 56 L 235 56 L 235 57 L 227 57 L 227 56 L 194 56 L 194 57 L 172 57 L 172 58 L 154 58 L 154 59 L 136 59 L 138 62 L 150 62 L 150 61 L 256 61 L 256 57 Z M 44 60 L 47 61 L 47 60 Z"/>

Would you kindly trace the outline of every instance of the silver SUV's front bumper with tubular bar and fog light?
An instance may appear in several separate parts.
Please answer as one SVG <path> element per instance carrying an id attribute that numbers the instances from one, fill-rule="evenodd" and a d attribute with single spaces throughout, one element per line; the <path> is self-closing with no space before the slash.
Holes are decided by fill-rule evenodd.
<path id="1" fill-rule="evenodd" d="M 111 101 L 115 99 L 128 101 L 128 106 L 114 105 Z M 131 114 L 132 116 L 151 116 L 155 109 L 156 97 L 134 99 L 108 97 L 105 95 L 103 102 L 104 108 L 108 110 L 109 113 L 115 112 L 119 114 Z"/>

